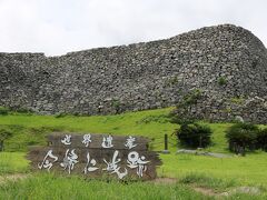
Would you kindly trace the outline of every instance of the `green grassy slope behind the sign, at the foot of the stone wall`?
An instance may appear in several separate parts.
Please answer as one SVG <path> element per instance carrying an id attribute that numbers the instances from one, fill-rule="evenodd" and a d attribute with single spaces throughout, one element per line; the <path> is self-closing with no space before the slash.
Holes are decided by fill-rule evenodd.
<path id="1" fill-rule="evenodd" d="M 161 150 L 164 134 L 169 134 L 170 148 L 176 149 L 176 137 L 171 136 L 177 124 L 168 122 L 166 116 L 171 108 L 140 112 L 128 112 L 118 116 L 63 117 L 53 116 L 0 116 L 0 129 L 10 129 L 14 137 L 7 141 L 7 151 L 27 150 L 27 146 L 46 144 L 44 136 L 51 131 L 95 132 L 112 134 L 145 136 L 155 139 L 154 147 Z M 227 152 L 224 131 L 229 123 L 212 123 L 214 146 L 207 150 Z"/>

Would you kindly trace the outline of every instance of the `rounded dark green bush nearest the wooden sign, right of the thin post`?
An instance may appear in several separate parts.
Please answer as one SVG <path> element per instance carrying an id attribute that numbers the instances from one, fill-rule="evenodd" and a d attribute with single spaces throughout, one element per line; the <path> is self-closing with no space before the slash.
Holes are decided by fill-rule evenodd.
<path id="1" fill-rule="evenodd" d="M 182 146 L 189 148 L 205 148 L 210 144 L 212 131 L 207 126 L 198 123 L 182 123 L 176 136 Z"/>

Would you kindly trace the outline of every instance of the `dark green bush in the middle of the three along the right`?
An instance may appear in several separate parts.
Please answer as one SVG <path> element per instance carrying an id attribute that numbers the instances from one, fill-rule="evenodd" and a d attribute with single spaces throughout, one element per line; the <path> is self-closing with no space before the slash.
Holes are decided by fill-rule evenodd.
<path id="1" fill-rule="evenodd" d="M 236 123 L 226 131 L 229 150 L 245 154 L 247 150 L 255 150 L 259 129 L 251 123 Z"/>

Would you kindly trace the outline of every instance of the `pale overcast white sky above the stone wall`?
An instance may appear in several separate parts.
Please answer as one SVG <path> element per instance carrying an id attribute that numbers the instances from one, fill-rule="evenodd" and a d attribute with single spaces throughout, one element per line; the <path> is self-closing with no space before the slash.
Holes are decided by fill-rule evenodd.
<path id="1" fill-rule="evenodd" d="M 234 23 L 267 46 L 266 0 L 0 0 L 0 52 L 59 56 Z"/>

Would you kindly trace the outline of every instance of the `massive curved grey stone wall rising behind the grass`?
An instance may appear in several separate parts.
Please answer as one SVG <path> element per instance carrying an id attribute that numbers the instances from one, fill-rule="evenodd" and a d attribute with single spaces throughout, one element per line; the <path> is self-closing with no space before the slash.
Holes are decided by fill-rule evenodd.
<path id="1" fill-rule="evenodd" d="M 206 99 L 191 113 L 218 120 L 238 114 L 266 123 L 266 48 L 251 32 L 231 24 L 61 57 L 0 53 L 0 104 L 44 114 L 164 108 L 200 89 Z M 263 102 L 256 103 L 255 113 L 250 106 L 257 98 Z M 250 104 L 234 106 L 231 112 L 231 99 Z M 221 114 L 226 109 L 229 113 Z"/>

